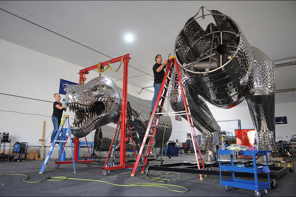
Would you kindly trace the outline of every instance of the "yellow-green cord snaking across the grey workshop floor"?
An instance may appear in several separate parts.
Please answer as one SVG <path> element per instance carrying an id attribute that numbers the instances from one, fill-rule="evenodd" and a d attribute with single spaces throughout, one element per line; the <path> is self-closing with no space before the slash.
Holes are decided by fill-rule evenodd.
<path id="1" fill-rule="evenodd" d="M 167 173 L 169 174 L 169 173 Z M 166 175 L 167 175 L 166 174 Z M 158 184 L 155 184 L 155 183 L 130 183 L 129 185 L 119 185 L 119 184 L 114 184 L 114 183 L 109 183 L 109 182 L 106 182 L 106 181 L 101 181 L 101 180 L 93 180 L 93 179 L 76 179 L 76 178 L 68 178 L 68 177 L 65 177 L 65 176 L 54 176 L 54 177 L 47 177 L 46 179 L 43 179 L 42 181 L 27 181 L 27 179 L 29 178 L 27 175 L 23 175 L 23 174 L 10 174 L 10 175 L 0 175 L 1 176 L 11 176 L 11 175 L 21 175 L 21 176 L 25 176 L 25 178 L 23 179 L 23 182 L 26 182 L 26 183 L 41 183 L 43 181 L 63 181 L 63 180 L 66 180 L 66 179 L 72 179 L 72 180 L 83 180 L 83 181 L 97 181 L 97 182 L 102 182 L 102 183 L 107 183 L 107 184 L 111 184 L 111 185 L 115 185 L 115 186 L 121 186 L 121 187 L 135 187 L 135 186 L 141 186 L 141 187 L 163 187 L 163 188 L 166 188 L 168 189 L 169 191 L 175 191 L 175 192 L 187 192 L 188 189 L 185 188 L 185 187 L 181 187 L 181 186 L 176 186 L 176 185 L 170 185 L 170 184 L 165 184 L 164 181 L 158 181 L 158 182 L 162 182 L 162 183 L 158 183 Z M 146 176 L 147 177 L 147 176 Z M 148 179 L 148 178 L 147 178 Z M 158 178 L 159 179 L 159 178 Z M 152 180 L 152 179 L 150 179 Z M 165 180 L 165 179 L 160 179 L 160 180 Z M 166 179 L 168 181 L 170 180 L 177 180 L 177 179 Z M 167 186 L 172 186 L 172 187 L 180 187 L 180 188 L 183 188 L 185 189 L 185 191 L 177 191 L 177 190 L 172 190 L 170 188 L 168 188 Z"/>

